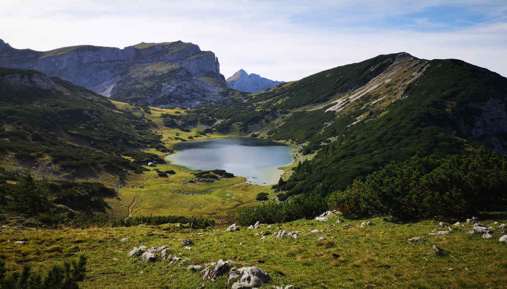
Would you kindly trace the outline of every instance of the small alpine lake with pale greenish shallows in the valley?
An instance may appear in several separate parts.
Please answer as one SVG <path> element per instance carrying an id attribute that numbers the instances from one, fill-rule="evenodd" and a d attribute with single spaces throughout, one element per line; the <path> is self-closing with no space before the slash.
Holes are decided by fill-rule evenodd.
<path id="1" fill-rule="evenodd" d="M 177 152 L 165 157 L 172 164 L 195 171 L 226 170 L 257 185 L 276 184 L 283 173 L 277 168 L 294 160 L 294 147 L 253 138 L 190 141 L 173 149 Z"/>

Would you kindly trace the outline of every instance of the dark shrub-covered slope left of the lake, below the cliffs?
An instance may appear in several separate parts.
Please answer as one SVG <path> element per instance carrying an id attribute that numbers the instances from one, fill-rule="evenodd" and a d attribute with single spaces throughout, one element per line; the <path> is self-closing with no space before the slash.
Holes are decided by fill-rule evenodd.
<path id="1" fill-rule="evenodd" d="M 165 150 L 161 136 L 152 132 L 152 121 L 83 87 L 38 71 L 0 68 L 0 94 L 3 167 L 20 164 L 54 176 L 89 179 L 140 172 L 140 162 L 163 161 L 139 151 Z"/>

